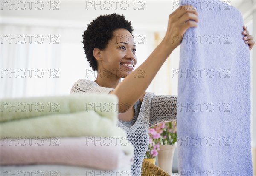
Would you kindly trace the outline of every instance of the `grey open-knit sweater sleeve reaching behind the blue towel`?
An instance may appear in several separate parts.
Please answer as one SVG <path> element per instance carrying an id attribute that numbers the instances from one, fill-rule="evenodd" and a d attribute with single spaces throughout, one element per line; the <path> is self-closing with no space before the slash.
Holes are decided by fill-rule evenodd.
<path id="1" fill-rule="evenodd" d="M 149 127 L 177 119 L 177 96 L 154 95 L 151 99 Z"/>

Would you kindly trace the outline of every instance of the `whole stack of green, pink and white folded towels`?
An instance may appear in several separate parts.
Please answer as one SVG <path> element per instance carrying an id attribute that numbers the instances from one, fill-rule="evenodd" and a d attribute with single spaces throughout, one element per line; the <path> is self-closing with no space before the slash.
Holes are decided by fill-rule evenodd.
<path id="1" fill-rule="evenodd" d="M 110 94 L 1 99 L 0 175 L 131 175 Z"/>

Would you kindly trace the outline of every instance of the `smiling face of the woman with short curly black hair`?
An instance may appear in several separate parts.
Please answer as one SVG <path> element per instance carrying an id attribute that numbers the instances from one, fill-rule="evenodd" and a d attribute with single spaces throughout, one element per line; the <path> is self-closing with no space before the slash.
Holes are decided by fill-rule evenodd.
<path id="1" fill-rule="evenodd" d="M 105 50 L 101 51 L 102 60 L 98 62 L 98 73 L 104 77 L 127 77 L 137 63 L 135 52 L 136 46 L 131 33 L 126 29 L 116 29 Z"/>

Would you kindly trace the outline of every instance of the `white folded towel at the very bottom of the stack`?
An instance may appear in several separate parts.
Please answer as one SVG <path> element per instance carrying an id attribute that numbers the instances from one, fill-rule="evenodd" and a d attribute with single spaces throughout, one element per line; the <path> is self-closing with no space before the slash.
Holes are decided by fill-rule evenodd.
<path id="1" fill-rule="evenodd" d="M 1 176 L 131 176 L 131 166 L 96 170 L 66 165 L 0 166 Z"/>

